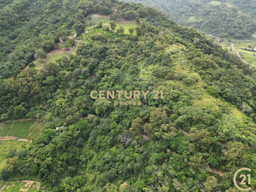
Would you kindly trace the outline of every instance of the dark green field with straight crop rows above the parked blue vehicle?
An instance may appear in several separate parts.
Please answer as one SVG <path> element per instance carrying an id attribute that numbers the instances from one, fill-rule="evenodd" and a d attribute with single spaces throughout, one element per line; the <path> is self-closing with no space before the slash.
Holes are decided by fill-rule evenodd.
<path id="1" fill-rule="evenodd" d="M 1 125 L 0 137 L 19 137 L 33 140 L 44 125 L 38 120 L 8 121 Z"/>

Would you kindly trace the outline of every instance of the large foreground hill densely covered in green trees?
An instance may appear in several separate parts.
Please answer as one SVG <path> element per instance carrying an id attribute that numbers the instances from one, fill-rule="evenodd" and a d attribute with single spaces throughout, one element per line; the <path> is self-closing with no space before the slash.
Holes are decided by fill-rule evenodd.
<path id="1" fill-rule="evenodd" d="M 0 125 L 44 123 L 3 155 L 1 186 L 231 192 L 248 167 L 256 187 L 256 70 L 236 55 L 141 4 L 1 1 L 0 15 Z M 92 90 L 149 93 L 92 99 Z"/>

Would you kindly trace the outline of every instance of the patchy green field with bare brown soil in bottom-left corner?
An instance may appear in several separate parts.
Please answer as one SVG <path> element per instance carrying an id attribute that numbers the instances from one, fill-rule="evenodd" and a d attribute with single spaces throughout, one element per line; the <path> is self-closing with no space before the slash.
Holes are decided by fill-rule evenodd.
<path id="1" fill-rule="evenodd" d="M 36 181 L 2 181 L 0 180 L 0 192 L 37 192 L 40 189 L 40 183 Z"/>

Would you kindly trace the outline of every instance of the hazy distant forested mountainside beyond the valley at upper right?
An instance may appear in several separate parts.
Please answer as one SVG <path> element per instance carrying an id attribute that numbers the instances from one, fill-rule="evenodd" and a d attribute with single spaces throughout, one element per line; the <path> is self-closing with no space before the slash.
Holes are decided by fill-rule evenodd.
<path id="1" fill-rule="evenodd" d="M 125 2 L 131 2 L 125 0 Z M 256 31 L 254 0 L 135 0 L 158 8 L 184 26 L 194 26 L 205 34 L 245 39 Z"/>

